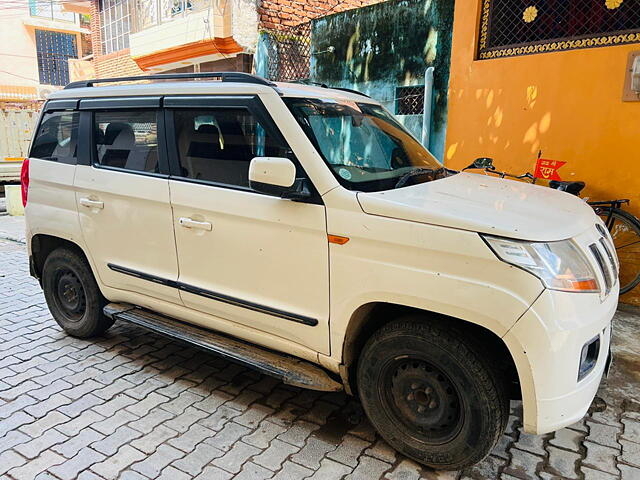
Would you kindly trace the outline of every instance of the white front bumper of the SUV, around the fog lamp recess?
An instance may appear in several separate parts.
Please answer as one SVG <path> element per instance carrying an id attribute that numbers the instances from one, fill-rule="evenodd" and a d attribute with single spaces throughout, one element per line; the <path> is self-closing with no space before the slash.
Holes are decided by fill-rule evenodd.
<path id="1" fill-rule="evenodd" d="M 618 289 L 599 294 L 546 290 L 505 335 L 523 397 L 524 429 L 543 434 L 586 414 L 605 371 Z M 578 381 L 582 347 L 600 337 L 593 369 Z"/>

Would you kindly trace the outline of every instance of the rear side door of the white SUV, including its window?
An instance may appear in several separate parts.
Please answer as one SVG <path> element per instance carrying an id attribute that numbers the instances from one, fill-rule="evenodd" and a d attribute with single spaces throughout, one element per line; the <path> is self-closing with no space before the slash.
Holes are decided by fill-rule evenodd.
<path id="1" fill-rule="evenodd" d="M 181 303 L 159 97 L 80 102 L 82 235 L 103 284 Z M 161 139 L 161 140 L 159 140 Z"/>

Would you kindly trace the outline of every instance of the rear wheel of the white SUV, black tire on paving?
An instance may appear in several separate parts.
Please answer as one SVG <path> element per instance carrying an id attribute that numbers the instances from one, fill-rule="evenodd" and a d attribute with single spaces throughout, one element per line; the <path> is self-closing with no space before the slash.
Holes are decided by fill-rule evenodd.
<path id="1" fill-rule="evenodd" d="M 91 267 L 75 251 L 58 248 L 49 254 L 42 269 L 42 289 L 53 318 L 69 335 L 93 337 L 113 325 L 102 313 L 107 300 Z"/>

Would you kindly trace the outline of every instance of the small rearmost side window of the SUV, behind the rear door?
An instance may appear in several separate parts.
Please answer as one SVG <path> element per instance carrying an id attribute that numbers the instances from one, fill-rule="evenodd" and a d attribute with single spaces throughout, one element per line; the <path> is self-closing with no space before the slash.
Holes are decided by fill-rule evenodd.
<path id="1" fill-rule="evenodd" d="M 75 165 L 78 161 L 78 112 L 45 113 L 30 157 Z"/>

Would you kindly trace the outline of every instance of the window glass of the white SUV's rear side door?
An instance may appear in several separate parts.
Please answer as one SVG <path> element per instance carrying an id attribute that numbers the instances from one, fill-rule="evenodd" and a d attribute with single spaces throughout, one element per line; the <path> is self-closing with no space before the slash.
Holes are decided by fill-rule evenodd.
<path id="1" fill-rule="evenodd" d="M 95 112 L 96 163 L 124 170 L 159 173 L 157 117 L 156 110 Z"/>

